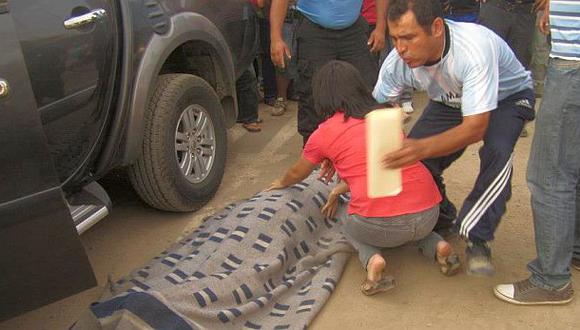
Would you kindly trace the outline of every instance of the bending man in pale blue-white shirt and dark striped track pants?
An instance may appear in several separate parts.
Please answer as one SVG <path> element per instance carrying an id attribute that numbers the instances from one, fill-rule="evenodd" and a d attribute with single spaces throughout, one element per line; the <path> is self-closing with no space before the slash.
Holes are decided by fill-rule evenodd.
<path id="1" fill-rule="evenodd" d="M 530 73 L 509 46 L 477 24 L 447 21 L 439 0 L 391 0 L 389 33 L 396 52 L 381 68 L 373 95 L 396 101 L 406 86 L 427 91 L 430 101 L 402 149 L 384 164 L 399 168 L 422 160 L 443 195 L 438 229 L 452 226 L 443 171 L 465 148 L 483 141 L 480 171 L 455 229 L 468 241 L 467 272 L 491 275 L 488 242 L 511 195 L 512 153 L 526 120 L 534 118 Z"/>

